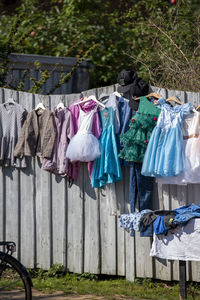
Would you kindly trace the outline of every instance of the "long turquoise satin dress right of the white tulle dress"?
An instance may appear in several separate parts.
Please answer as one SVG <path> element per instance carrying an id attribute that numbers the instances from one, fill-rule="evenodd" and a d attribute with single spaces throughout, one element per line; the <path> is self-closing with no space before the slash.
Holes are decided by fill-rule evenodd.
<path id="1" fill-rule="evenodd" d="M 115 112 L 112 107 L 99 111 L 102 133 L 101 156 L 94 161 L 91 184 L 98 188 L 122 179 L 115 136 Z"/>

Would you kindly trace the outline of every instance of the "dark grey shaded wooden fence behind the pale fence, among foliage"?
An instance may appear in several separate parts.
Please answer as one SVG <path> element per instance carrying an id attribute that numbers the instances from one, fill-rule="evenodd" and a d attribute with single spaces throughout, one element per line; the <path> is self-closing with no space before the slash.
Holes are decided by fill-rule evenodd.
<path id="1" fill-rule="evenodd" d="M 74 57 L 55 57 L 55 56 L 44 56 L 44 55 L 33 55 L 33 54 L 16 54 L 9 55 L 9 69 L 10 72 L 7 76 L 7 84 L 16 88 L 21 78 L 23 77 L 24 71 L 28 69 L 30 73 L 25 77 L 23 90 L 27 92 L 33 85 L 30 80 L 31 75 L 36 80 L 40 78 L 40 71 L 36 68 L 34 63 L 38 61 L 41 65 L 41 71 L 48 70 L 51 72 L 50 78 L 42 86 L 39 91 L 40 94 L 47 94 L 49 90 L 55 86 L 59 81 L 60 74 L 63 72 L 65 75 L 69 73 L 72 67 L 75 65 L 77 59 Z M 85 60 L 74 71 L 70 80 L 64 83 L 61 87 L 57 88 L 53 94 L 70 94 L 79 93 L 87 90 L 89 87 L 89 69 L 92 64 Z"/>

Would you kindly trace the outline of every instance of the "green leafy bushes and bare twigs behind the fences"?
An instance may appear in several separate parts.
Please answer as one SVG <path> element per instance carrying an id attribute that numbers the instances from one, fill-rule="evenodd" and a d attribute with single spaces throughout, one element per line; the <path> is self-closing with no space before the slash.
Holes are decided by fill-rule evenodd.
<path id="1" fill-rule="evenodd" d="M 16 12 L 1 15 L 0 40 L 12 36 L 13 52 L 77 58 L 98 44 L 88 53 L 92 87 L 129 67 L 150 84 L 197 91 L 199 12 L 198 0 L 22 0 L 20 22 Z"/>

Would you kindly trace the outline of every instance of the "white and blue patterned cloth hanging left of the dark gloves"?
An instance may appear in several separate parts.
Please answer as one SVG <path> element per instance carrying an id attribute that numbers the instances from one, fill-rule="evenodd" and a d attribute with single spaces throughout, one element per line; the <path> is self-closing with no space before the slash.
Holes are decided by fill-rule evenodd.
<path id="1" fill-rule="evenodd" d="M 119 220 L 119 226 L 125 228 L 130 235 L 134 235 L 134 230 L 140 231 L 140 220 L 146 213 L 151 212 L 150 209 L 144 209 L 141 212 L 133 214 L 122 214 Z"/>

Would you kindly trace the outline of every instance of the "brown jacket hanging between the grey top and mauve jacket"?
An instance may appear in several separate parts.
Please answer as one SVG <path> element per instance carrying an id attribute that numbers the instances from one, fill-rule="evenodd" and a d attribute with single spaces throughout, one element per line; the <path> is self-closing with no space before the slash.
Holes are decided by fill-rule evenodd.
<path id="1" fill-rule="evenodd" d="M 53 122 L 52 112 L 45 110 L 32 110 L 15 146 L 14 156 L 39 156 L 40 158 L 51 158 L 56 128 Z"/>

